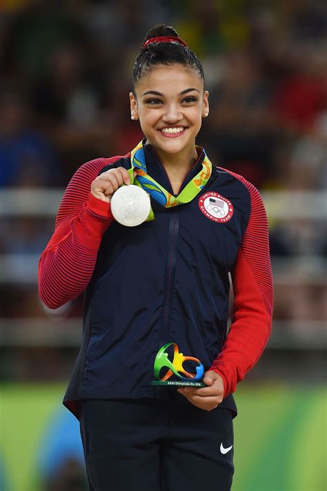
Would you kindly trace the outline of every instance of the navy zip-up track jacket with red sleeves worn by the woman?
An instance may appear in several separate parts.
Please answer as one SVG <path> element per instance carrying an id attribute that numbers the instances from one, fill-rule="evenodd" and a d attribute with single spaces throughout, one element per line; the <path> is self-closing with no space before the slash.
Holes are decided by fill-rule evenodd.
<path id="1" fill-rule="evenodd" d="M 155 150 L 143 141 L 148 173 L 173 194 Z M 201 149 L 200 149 L 201 150 Z M 204 152 L 181 190 L 202 167 Z M 224 381 L 219 405 L 236 414 L 238 381 L 259 359 L 270 334 L 273 284 L 268 226 L 259 192 L 243 177 L 212 166 L 197 197 L 164 208 L 155 220 L 121 226 L 90 186 L 130 155 L 96 159 L 75 173 L 39 262 L 39 294 L 50 308 L 84 293 L 83 341 L 63 403 L 79 417 L 82 399 L 175 398 L 150 385 L 155 356 L 177 343 L 184 356 Z M 235 294 L 228 336 L 231 274 Z"/>

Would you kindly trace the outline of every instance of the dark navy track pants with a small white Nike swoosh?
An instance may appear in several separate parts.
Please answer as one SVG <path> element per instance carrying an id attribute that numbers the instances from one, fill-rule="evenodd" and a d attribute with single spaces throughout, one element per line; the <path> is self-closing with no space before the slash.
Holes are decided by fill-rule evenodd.
<path id="1" fill-rule="evenodd" d="M 90 491 L 229 491 L 232 411 L 185 397 L 83 401 L 81 439 Z M 230 450 L 228 450 L 230 448 Z"/>

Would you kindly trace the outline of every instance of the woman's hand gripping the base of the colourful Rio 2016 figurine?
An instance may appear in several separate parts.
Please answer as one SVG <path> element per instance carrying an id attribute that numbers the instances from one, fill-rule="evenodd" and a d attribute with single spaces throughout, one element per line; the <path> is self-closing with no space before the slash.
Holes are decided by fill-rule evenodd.
<path id="1" fill-rule="evenodd" d="M 224 397 L 224 381 L 220 375 L 213 370 L 208 370 L 204 373 L 204 383 L 208 387 L 183 387 L 177 389 L 179 394 L 184 395 L 190 403 L 196 405 L 197 408 L 211 411 L 217 408 Z"/>

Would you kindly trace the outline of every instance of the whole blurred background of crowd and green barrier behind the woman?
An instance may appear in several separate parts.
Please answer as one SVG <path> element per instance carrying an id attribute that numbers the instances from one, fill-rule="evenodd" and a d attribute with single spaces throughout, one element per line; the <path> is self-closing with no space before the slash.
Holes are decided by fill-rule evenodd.
<path id="1" fill-rule="evenodd" d="M 161 22 L 204 66 L 210 117 L 197 143 L 255 184 L 268 212 L 273 332 L 235 394 L 233 490 L 326 490 L 327 12 L 319 0 L 0 1 L 0 490 L 87 490 L 79 425 L 61 405 L 83 297 L 46 308 L 37 265 L 72 174 L 141 140 L 130 120 L 132 65 Z"/>

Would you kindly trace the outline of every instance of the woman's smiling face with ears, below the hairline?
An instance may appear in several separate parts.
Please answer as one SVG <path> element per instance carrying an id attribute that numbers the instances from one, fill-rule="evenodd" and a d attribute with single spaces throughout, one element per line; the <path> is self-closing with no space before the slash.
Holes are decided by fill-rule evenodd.
<path id="1" fill-rule="evenodd" d="M 158 65 L 130 92 L 132 119 L 159 152 L 194 152 L 201 120 L 208 116 L 208 90 L 192 68 Z"/>

